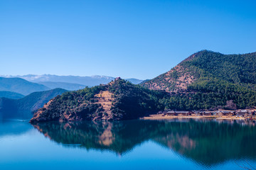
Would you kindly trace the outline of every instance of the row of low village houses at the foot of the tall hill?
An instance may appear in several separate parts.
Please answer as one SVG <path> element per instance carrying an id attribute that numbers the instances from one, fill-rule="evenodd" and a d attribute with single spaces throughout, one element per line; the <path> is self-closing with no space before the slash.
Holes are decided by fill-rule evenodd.
<path id="1" fill-rule="evenodd" d="M 243 109 L 237 111 L 227 111 L 227 110 L 218 110 L 218 111 L 164 111 L 159 112 L 163 115 L 172 115 L 172 116 L 235 116 L 237 118 L 253 118 L 255 119 L 256 109 Z"/>

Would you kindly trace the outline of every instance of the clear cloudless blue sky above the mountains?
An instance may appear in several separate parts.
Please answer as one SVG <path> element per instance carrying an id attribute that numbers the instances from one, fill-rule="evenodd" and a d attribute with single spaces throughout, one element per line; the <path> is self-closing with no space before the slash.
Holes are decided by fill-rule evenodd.
<path id="1" fill-rule="evenodd" d="M 151 79 L 199 50 L 256 51 L 256 1 L 0 0 L 0 74 Z"/>

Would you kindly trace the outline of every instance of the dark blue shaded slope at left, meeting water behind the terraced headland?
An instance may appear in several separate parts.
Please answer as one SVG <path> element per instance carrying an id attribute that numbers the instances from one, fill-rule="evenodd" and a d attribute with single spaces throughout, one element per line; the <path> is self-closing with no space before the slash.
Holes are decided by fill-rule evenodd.
<path id="1" fill-rule="evenodd" d="M 43 107 L 51 98 L 63 94 L 65 89 L 38 91 L 20 99 L 0 98 L 0 115 L 2 118 L 30 119 L 31 112 Z"/>

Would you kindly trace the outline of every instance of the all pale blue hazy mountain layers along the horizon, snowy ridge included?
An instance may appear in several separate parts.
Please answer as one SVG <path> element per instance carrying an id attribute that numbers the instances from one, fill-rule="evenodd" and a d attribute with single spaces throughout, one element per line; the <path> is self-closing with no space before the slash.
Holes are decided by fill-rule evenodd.
<path id="1" fill-rule="evenodd" d="M 68 91 L 84 89 L 85 86 L 96 86 L 107 84 L 114 77 L 92 76 L 56 76 L 50 74 L 25 76 L 2 76 L 0 77 L 0 97 L 6 98 L 22 98 L 36 91 L 46 91 L 50 89 L 60 88 Z M 139 84 L 142 80 L 127 79 L 133 84 Z M 16 94 L 14 94 L 16 93 Z"/>

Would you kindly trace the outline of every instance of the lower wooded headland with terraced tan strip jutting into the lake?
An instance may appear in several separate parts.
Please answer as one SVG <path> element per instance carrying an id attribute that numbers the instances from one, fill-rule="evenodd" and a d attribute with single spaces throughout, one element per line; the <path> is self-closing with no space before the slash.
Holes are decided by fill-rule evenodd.
<path id="1" fill-rule="evenodd" d="M 127 120 L 164 109 L 163 93 L 123 79 L 110 84 L 70 91 L 50 100 L 32 122 L 48 120 Z"/>

